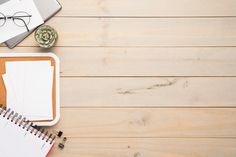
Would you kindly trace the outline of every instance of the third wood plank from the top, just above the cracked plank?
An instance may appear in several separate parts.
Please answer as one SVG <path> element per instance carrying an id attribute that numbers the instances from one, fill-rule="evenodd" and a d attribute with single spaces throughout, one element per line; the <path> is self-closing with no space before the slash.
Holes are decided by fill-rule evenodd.
<path id="1" fill-rule="evenodd" d="M 61 76 L 236 76 L 235 47 L 17 47 L 13 51 L 55 52 L 61 60 Z"/>

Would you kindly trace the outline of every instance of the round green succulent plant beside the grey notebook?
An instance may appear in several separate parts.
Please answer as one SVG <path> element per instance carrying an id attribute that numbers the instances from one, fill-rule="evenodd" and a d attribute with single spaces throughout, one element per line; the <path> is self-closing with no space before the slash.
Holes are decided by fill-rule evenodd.
<path id="1" fill-rule="evenodd" d="M 57 32 L 48 25 L 40 26 L 35 31 L 35 40 L 43 48 L 53 47 L 56 43 L 57 36 Z"/>

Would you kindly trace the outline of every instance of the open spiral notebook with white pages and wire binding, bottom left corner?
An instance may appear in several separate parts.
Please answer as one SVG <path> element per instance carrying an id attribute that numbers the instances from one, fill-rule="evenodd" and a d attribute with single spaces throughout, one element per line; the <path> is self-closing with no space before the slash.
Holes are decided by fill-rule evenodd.
<path id="1" fill-rule="evenodd" d="M 32 126 L 14 111 L 0 108 L 0 157 L 46 157 L 55 136 Z"/>

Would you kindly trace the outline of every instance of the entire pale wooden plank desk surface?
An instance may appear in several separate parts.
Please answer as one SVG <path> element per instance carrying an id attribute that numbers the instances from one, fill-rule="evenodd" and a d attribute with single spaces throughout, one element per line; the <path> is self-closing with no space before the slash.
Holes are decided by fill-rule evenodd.
<path id="1" fill-rule="evenodd" d="M 49 157 L 236 156 L 235 0 L 60 2 L 68 142 Z"/>

